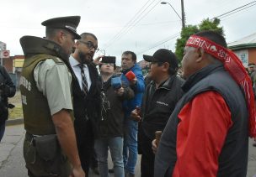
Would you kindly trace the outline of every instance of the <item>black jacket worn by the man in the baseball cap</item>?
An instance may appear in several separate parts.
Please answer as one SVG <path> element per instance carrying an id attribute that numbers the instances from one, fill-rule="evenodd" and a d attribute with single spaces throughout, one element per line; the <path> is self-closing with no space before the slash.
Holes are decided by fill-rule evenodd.
<path id="1" fill-rule="evenodd" d="M 157 89 L 154 81 L 147 86 L 141 105 L 140 132 L 151 141 L 156 131 L 163 131 L 176 103 L 183 96 L 183 83 L 183 79 L 172 75 Z"/>

